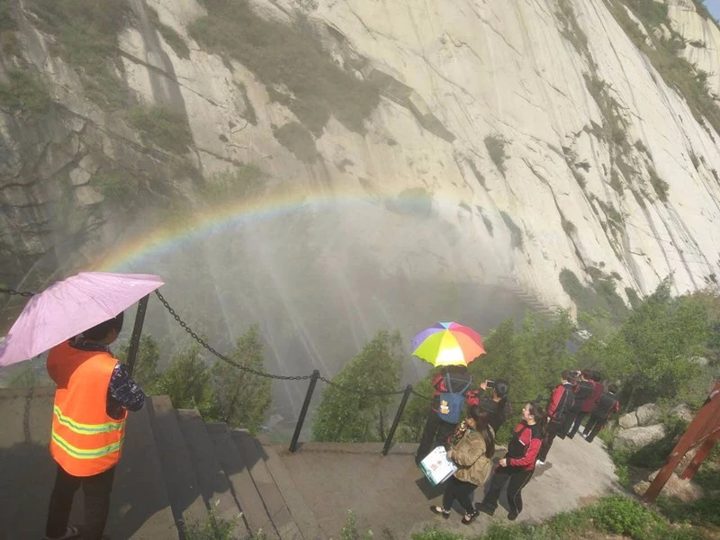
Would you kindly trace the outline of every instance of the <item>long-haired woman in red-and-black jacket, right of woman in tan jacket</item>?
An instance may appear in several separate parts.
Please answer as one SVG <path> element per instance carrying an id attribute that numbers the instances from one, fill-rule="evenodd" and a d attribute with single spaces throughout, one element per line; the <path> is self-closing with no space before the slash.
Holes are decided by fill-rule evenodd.
<path id="1" fill-rule="evenodd" d="M 515 428 L 508 453 L 500 460 L 492 476 L 490 491 L 482 503 L 475 508 L 492 516 L 498 508 L 498 499 L 503 486 L 508 484 L 508 505 L 510 521 L 518 518 L 523 509 L 522 489 L 530 482 L 535 471 L 535 462 L 540 446 L 543 444 L 545 410 L 536 401 L 527 403 L 523 409 L 522 422 Z"/>

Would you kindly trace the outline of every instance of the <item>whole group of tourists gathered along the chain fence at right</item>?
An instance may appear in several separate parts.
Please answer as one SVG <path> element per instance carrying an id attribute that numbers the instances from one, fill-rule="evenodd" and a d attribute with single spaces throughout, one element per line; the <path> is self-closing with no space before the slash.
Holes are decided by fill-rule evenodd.
<path id="1" fill-rule="evenodd" d="M 435 447 L 446 447 L 447 458 L 455 463 L 457 471 L 443 484 L 442 506 L 431 506 L 430 510 L 449 518 L 457 500 L 464 509 L 465 525 L 481 512 L 492 516 L 498 508 L 500 491 L 506 485 L 508 518 L 517 519 L 523 509 L 522 490 L 536 466 L 545 464 L 554 438 L 575 437 L 582 420 L 590 415 L 581 437 L 592 442 L 610 416 L 619 410 L 617 386 L 608 384 L 606 389 L 599 372 L 563 371 L 546 410 L 539 401 L 525 405 L 508 451 L 493 469 L 495 434 L 510 415 L 509 383 L 488 380 L 477 389 L 473 389 L 473 383 L 473 376 L 464 365 L 446 366 L 435 376 L 432 408 L 415 455 L 416 464 L 421 464 Z M 489 389 L 491 396 L 483 395 Z M 462 422 L 459 421 L 462 417 L 452 415 L 455 398 L 467 405 L 467 416 Z M 473 504 L 473 492 L 489 479 L 490 486 L 482 502 Z"/>

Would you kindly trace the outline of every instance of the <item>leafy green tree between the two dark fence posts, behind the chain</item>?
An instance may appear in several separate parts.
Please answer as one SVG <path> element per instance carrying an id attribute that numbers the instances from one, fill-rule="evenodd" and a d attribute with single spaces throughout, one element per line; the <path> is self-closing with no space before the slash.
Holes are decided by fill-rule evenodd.
<path id="1" fill-rule="evenodd" d="M 312 437 L 316 441 L 382 441 L 397 396 L 372 394 L 398 390 L 401 355 L 400 334 L 378 332 L 335 376 L 333 383 L 338 386 L 329 385 L 322 393 Z"/>

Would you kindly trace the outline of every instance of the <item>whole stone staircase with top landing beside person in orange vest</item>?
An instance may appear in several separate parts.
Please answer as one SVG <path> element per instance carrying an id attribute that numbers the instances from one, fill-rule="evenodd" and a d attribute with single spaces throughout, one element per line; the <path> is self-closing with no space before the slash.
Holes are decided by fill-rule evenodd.
<path id="1" fill-rule="evenodd" d="M 55 474 L 47 450 L 53 396 L 52 388 L 0 390 L 0 540 L 44 535 Z M 71 522 L 82 522 L 82 507 L 78 495 Z M 205 423 L 197 410 L 175 410 L 167 396 L 149 399 L 128 420 L 106 534 L 184 540 L 184 520 L 206 524 L 211 515 L 233 524 L 232 538 L 322 537 L 274 446 Z"/>

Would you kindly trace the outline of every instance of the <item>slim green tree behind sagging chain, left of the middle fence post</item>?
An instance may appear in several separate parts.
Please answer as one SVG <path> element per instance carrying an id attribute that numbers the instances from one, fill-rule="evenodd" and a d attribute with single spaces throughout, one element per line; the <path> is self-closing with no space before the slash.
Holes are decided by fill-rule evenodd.
<path id="1" fill-rule="evenodd" d="M 232 360 L 238 365 L 265 372 L 263 344 L 257 325 L 238 338 Z M 211 382 L 215 392 L 214 415 L 232 427 L 257 433 L 272 402 L 270 379 L 248 374 L 217 360 L 212 366 Z"/>

